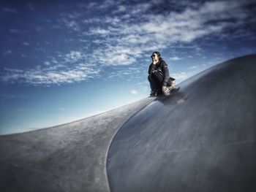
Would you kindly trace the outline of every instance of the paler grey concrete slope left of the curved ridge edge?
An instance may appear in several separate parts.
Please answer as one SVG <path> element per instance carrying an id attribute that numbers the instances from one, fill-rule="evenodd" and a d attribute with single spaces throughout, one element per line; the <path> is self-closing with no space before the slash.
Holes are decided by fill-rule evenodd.
<path id="1" fill-rule="evenodd" d="M 0 137 L 0 191 L 109 191 L 108 147 L 152 98 L 53 128 Z"/>

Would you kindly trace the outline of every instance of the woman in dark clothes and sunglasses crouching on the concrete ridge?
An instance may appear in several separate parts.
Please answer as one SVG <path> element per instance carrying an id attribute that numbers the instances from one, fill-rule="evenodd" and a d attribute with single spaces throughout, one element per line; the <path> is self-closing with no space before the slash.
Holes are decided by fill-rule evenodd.
<path id="1" fill-rule="evenodd" d="M 159 52 L 151 55 L 152 63 L 148 68 L 148 81 L 150 82 L 150 96 L 157 96 L 164 93 L 170 95 L 170 91 L 175 91 L 178 87 L 175 85 L 175 79 L 169 77 L 169 70 L 165 61 L 161 58 Z"/>

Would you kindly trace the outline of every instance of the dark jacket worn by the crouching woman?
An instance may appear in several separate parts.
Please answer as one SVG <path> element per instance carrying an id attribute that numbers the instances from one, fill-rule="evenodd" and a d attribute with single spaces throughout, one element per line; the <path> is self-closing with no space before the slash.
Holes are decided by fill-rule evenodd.
<path id="1" fill-rule="evenodd" d="M 165 61 L 160 58 L 158 63 L 154 65 L 153 63 L 148 68 L 148 74 L 151 75 L 153 72 L 159 72 L 163 76 L 162 86 L 166 86 L 169 80 L 169 70 Z"/>

